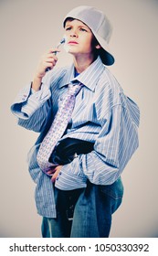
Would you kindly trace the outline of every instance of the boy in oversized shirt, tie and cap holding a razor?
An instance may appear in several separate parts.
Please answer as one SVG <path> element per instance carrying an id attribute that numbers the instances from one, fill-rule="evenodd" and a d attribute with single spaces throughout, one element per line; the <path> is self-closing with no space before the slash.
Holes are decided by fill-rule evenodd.
<path id="1" fill-rule="evenodd" d="M 105 66 L 114 63 L 108 50 L 111 24 L 107 17 L 94 7 L 79 6 L 68 13 L 63 25 L 72 66 L 54 68 L 58 48 L 50 49 L 41 59 L 33 82 L 20 92 L 11 110 L 19 125 L 40 133 L 29 152 L 28 163 L 37 183 L 42 236 L 109 237 L 111 215 L 121 205 L 123 195 L 121 172 L 138 147 L 140 113 Z M 46 72 L 47 68 L 51 70 Z M 75 101 L 73 112 L 56 142 L 54 137 L 69 109 L 59 124 L 58 112 L 67 101 L 68 85 L 76 83 L 78 92 L 75 96 L 70 92 Z M 49 128 L 54 132 L 47 139 Z M 67 139 L 78 139 L 83 146 L 63 164 L 63 154 L 68 149 L 63 149 L 63 143 Z M 49 157 L 50 141 L 55 145 L 49 147 Z M 90 150 L 86 143 L 92 145 Z M 58 146 L 63 149 L 61 161 L 56 161 Z M 77 152 L 78 149 L 77 145 Z M 44 159 L 46 155 L 48 161 Z"/>

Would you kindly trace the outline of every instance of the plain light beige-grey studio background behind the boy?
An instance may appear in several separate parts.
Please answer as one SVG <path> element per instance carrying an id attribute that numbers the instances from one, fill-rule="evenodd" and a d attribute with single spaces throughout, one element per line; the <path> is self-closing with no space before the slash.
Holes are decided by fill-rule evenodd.
<path id="1" fill-rule="evenodd" d="M 140 147 L 125 168 L 125 194 L 113 216 L 111 237 L 157 237 L 158 2 L 156 0 L 1 0 L 1 174 L 0 236 L 40 237 L 41 217 L 26 154 L 37 134 L 16 125 L 10 105 L 32 80 L 40 55 L 62 37 L 62 20 L 78 5 L 94 5 L 113 25 L 110 69 L 141 109 Z M 58 66 L 71 58 L 58 54 Z"/>

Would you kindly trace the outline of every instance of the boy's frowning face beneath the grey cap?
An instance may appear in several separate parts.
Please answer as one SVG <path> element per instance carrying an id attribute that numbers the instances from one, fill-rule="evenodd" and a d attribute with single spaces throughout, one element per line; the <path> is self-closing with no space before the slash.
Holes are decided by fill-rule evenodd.
<path id="1" fill-rule="evenodd" d="M 79 54 L 91 54 L 95 46 L 93 46 L 93 34 L 90 27 L 86 26 L 78 19 L 67 20 L 65 25 L 66 50 L 77 56 Z"/>

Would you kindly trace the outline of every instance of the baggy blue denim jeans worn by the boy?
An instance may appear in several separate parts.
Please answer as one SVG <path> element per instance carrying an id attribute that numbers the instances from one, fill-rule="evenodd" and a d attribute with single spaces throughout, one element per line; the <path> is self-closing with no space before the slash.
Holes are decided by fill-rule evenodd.
<path id="1" fill-rule="evenodd" d="M 121 205 L 121 178 L 112 185 L 100 186 L 88 182 L 86 188 L 63 191 L 55 188 L 57 218 L 43 218 L 42 236 L 53 238 L 108 238 L 112 214 Z M 74 206 L 73 220 L 68 220 L 68 208 Z"/>

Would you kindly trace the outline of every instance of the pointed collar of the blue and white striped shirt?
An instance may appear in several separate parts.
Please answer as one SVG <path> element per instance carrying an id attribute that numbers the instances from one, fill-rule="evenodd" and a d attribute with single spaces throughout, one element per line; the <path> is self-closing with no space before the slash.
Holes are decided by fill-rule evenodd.
<path id="1" fill-rule="evenodd" d="M 98 80 L 100 79 L 100 75 L 105 69 L 100 57 L 96 59 L 93 63 L 91 63 L 90 67 L 85 69 L 83 72 L 79 74 L 77 78 L 74 78 L 74 64 L 72 64 L 61 81 L 59 88 L 68 85 L 70 82 L 75 80 L 79 80 L 83 85 L 88 87 L 90 91 L 94 91 Z"/>

